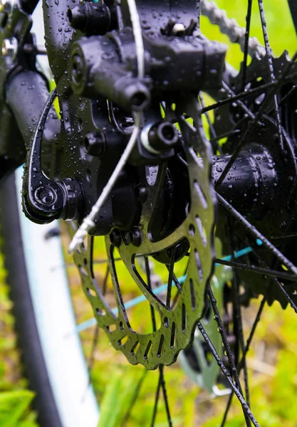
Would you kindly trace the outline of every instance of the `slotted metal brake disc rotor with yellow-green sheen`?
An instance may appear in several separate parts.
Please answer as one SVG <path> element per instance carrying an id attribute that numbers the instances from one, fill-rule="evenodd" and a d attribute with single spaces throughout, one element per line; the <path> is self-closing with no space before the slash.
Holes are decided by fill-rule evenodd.
<path id="1" fill-rule="evenodd" d="M 80 248 L 74 255 L 85 295 L 93 306 L 98 325 L 108 334 L 113 347 L 123 352 L 131 364 L 142 364 L 147 369 L 155 369 L 159 364 L 172 364 L 180 350 L 190 344 L 197 320 L 202 317 L 204 290 L 214 269 L 216 198 L 211 179 L 212 149 L 203 135 L 197 96 L 192 95 L 187 100 L 179 101 L 177 112 L 179 111 L 180 115 L 185 112 L 187 116 L 194 117 L 193 125 L 183 118 L 179 123 L 186 142 L 184 149 L 188 164 L 190 202 L 187 214 L 169 236 L 160 241 L 152 240 L 150 220 L 164 181 L 164 168 L 155 169 L 157 178 L 154 183 L 147 182 L 147 199 L 142 204 L 140 221 L 132 230 L 134 244 L 131 244 L 129 238 L 125 238 L 127 234 L 119 233 L 118 230 L 112 231 L 112 238 L 105 238 L 118 316 L 111 310 L 112 307 L 108 306 L 96 283 L 91 245 L 88 245 L 87 249 Z M 199 162 L 198 155 L 201 157 Z M 135 259 L 140 255 L 145 257 L 169 251 L 174 262 L 174 257 L 179 258 L 179 246 L 184 244 L 184 241 L 187 241 L 189 248 L 187 272 L 183 283 L 175 283 L 180 295 L 176 306 L 172 308 L 168 300 L 163 302 L 150 288 L 150 284 L 145 282 L 137 270 Z M 125 292 L 125 283 L 120 283 L 115 264 L 116 252 L 130 273 L 131 280 L 135 281 L 146 300 L 160 315 L 160 327 L 152 333 L 137 333 L 130 325 L 122 295 L 122 292 Z M 171 280 L 172 278 L 168 280 L 167 292 L 170 292 Z"/>

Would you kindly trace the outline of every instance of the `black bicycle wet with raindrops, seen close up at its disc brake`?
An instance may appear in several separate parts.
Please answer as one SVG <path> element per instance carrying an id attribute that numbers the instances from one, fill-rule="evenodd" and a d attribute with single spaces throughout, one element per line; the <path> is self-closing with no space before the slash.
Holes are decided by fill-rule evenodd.
<path id="1" fill-rule="evenodd" d="M 75 327 L 57 220 L 69 223 L 95 322 L 130 364 L 159 373 L 150 425 L 160 394 L 172 425 L 164 367 L 182 352 L 185 369 L 209 391 L 215 364 L 221 369 L 219 381 L 231 391 L 222 426 L 234 394 L 242 422 L 259 426 L 246 353 L 266 304 L 297 312 L 296 55 L 273 57 L 261 0 L 264 46 L 250 38 L 251 0 L 246 28 L 207 0 L 45 1 L 46 51 L 31 34 L 37 3 L 1 2 L 0 222 L 41 426 L 99 419 L 77 333 L 94 320 Z M 288 6 L 296 24 L 296 6 Z M 226 46 L 199 31 L 201 12 L 241 46 L 239 73 L 226 64 Z M 36 64 L 42 53 L 56 83 L 51 93 Z M 16 183 L 12 174 L 21 164 L 22 188 L 20 169 Z M 98 236 L 105 236 L 104 276 L 95 272 Z M 215 265 L 226 268 L 214 295 Z M 241 306 L 259 295 L 245 343 Z M 128 310 L 140 302 L 144 319 L 135 323 Z"/>

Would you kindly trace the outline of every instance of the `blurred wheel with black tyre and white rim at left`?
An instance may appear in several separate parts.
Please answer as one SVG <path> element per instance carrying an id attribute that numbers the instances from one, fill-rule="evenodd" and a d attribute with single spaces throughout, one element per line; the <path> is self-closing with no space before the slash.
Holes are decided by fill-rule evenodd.
<path id="1" fill-rule="evenodd" d="M 21 174 L 19 169 L 1 187 L 1 252 L 38 421 L 46 427 L 95 427 L 98 405 L 76 332 L 60 239 L 47 237 L 53 226 L 38 227 L 22 214 Z"/>

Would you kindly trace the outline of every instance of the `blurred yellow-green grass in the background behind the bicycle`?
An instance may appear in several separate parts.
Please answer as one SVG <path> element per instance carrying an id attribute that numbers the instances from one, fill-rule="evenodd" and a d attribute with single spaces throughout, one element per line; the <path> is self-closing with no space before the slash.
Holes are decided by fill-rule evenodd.
<path id="1" fill-rule="evenodd" d="M 217 0 L 217 4 L 226 9 L 230 17 L 244 26 L 244 1 Z M 271 40 L 271 47 L 276 55 L 288 48 L 291 55 L 297 50 L 296 36 L 291 24 L 286 1 L 266 0 L 266 21 Z M 259 27 L 257 1 L 254 1 L 253 19 L 251 21 L 251 36 L 263 41 Z M 219 33 L 216 26 L 210 26 L 207 19 L 202 17 L 202 30 L 206 36 L 214 40 L 228 43 L 226 36 Z M 235 68 L 239 68 L 242 53 L 239 46 L 230 46 L 227 60 Z M 96 257 L 103 256 L 103 245 L 97 247 Z M 71 278 L 71 292 L 75 305 L 78 322 L 83 322 L 93 313 L 80 288 L 80 281 L 75 270 L 68 270 Z M 102 278 L 103 269 L 96 268 L 98 278 Z M 127 272 L 122 266 L 120 277 L 127 298 L 137 296 L 135 285 L 131 285 Z M 33 427 L 36 426 L 35 413 L 29 410 L 32 394 L 26 389 L 27 384 L 21 376 L 19 352 L 16 349 L 16 337 L 13 330 L 14 319 L 11 315 L 9 290 L 4 284 L 4 270 L 0 267 L 0 426 L 1 427 Z M 109 283 L 109 286 L 111 284 Z M 112 292 L 109 292 L 110 304 L 113 305 Z M 251 307 L 243 309 L 246 336 L 256 315 L 258 301 L 251 303 Z M 149 321 L 142 306 L 132 310 L 132 322 L 136 325 L 145 325 Z M 296 427 L 297 411 L 295 399 L 297 392 L 297 328 L 296 315 L 288 307 L 281 310 L 278 303 L 273 307 L 266 307 L 257 336 L 248 357 L 249 379 L 251 383 L 251 408 L 263 427 Z M 82 333 L 84 350 L 87 357 L 93 343 L 94 329 Z M 100 345 L 95 350 L 95 363 L 91 372 L 92 382 L 98 399 L 102 401 L 102 416 L 100 427 L 121 426 L 125 418 L 125 411 L 131 404 L 135 387 L 142 379 L 142 387 L 137 393 L 139 406 L 135 406 L 126 426 L 148 426 L 154 406 L 157 372 L 147 372 L 141 367 L 131 367 L 119 352 L 110 347 L 108 339 L 100 331 Z M 145 375 L 145 376 L 144 376 Z M 192 427 L 219 426 L 226 398 L 213 400 L 206 392 L 197 389 L 197 386 L 184 376 L 178 364 L 165 369 L 167 391 L 172 406 L 174 426 Z M 143 377 L 144 376 L 144 377 Z M 143 377 L 143 378 L 142 378 Z M 157 427 L 167 426 L 165 406 L 162 399 L 157 416 Z M 239 404 L 234 399 L 234 407 L 226 424 L 231 427 L 241 427 L 242 413 Z M 54 427 L 54 426 L 53 426 Z M 88 426 L 85 426 L 88 427 Z"/>

